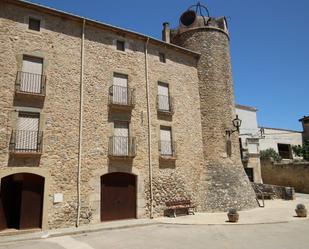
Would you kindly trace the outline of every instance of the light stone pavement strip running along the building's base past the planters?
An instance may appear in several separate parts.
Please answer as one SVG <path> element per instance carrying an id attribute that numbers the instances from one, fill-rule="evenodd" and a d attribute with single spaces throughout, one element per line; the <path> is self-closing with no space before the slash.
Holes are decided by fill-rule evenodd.
<path id="1" fill-rule="evenodd" d="M 156 219 L 122 220 L 104 222 L 96 225 L 81 226 L 79 228 L 65 228 L 50 231 L 36 231 L 32 233 L 13 233 L 5 235 L 0 233 L 0 243 L 10 243 L 24 240 L 36 240 L 41 238 L 60 237 L 64 235 L 88 234 L 90 232 L 134 228 L 150 225 L 250 225 L 250 224 L 276 224 L 293 221 L 306 221 L 308 218 L 295 217 L 295 207 L 303 203 L 309 208 L 309 195 L 297 194 L 296 200 L 266 200 L 265 208 L 255 208 L 240 211 L 238 223 L 227 222 L 226 213 L 196 213 L 196 215 L 179 216 L 177 218 L 161 217 Z M 68 238 L 66 238 L 68 240 Z"/>

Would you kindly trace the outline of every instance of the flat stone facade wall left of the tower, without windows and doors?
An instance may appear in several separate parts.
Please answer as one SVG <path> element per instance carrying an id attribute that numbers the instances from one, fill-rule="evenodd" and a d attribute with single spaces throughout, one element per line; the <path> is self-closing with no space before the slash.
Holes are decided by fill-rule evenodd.
<path id="1" fill-rule="evenodd" d="M 40 32 L 29 31 L 28 16 L 42 20 Z M 68 19 L 19 5 L 0 2 L 0 181 L 12 169 L 44 169 L 49 182 L 44 196 L 46 228 L 74 226 L 77 208 L 77 165 L 81 75 L 82 21 Z M 117 39 L 126 42 L 126 51 L 115 49 Z M 81 163 L 81 223 L 100 222 L 100 177 L 110 172 L 137 176 L 137 217 L 149 217 L 148 123 L 146 109 L 146 39 L 131 37 L 88 25 L 85 28 L 84 122 Z M 154 186 L 154 215 L 163 215 L 165 201 L 189 197 L 199 210 L 203 168 L 200 96 L 196 69 L 197 57 L 173 46 L 150 42 L 148 82 L 150 87 L 151 150 Z M 158 53 L 167 62 L 159 62 Z M 40 105 L 16 103 L 14 84 L 21 70 L 23 54 L 44 58 L 47 76 L 45 100 Z M 110 111 L 109 87 L 113 73 L 128 75 L 129 87 L 135 89 L 136 105 L 131 113 Z M 157 115 L 158 81 L 170 86 L 175 113 L 166 118 Z M 39 159 L 11 160 L 9 139 L 16 123 L 16 111 L 41 113 L 44 132 L 43 153 Z M 130 122 L 130 134 L 136 137 L 137 154 L 132 161 L 108 158 L 108 138 L 114 120 Z M 159 160 L 160 125 L 171 126 L 177 144 L 175 162 Z M 26 169 L 26 168 L 24 168 Z M 39 171 L 39 170 L 38 170 Z M 44 172 L 45 172 L 44 171 Z M 33 172 L 33 171 L 32 171 Z M 53 203 L 55 193 L 64 201 Z"/>

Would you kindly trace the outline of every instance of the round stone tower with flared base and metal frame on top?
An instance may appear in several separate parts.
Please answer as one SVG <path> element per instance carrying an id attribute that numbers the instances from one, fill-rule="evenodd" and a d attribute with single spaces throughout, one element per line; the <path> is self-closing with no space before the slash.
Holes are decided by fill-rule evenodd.
<path id="1" fill-rule="evenodd" d="M 197 68 L 205 160 L 202 208 L 255 207 L 255 193 L 240 159 L 238 133 L 232 133 L 235 108 L 225 17 L 209 17 L 207 8 L 198 3 L 181 15 L 179 28 L 171 31 L 171 43 L 201 54 Z"/>

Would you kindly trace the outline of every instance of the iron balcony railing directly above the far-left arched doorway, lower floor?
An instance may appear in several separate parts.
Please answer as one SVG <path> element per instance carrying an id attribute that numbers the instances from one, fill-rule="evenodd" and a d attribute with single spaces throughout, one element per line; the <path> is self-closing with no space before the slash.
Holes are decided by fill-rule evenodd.
<path id="1" fill-rule="evenodd" d="M 42 131 L 12 131 L 9 150 L 13 153 L 41 153 Z"/>

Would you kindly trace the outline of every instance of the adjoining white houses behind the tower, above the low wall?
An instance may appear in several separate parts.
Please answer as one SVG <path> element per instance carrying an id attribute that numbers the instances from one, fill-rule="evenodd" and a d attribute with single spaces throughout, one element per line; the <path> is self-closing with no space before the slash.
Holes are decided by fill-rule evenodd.
<path id="1" fill-rule="evenodd" d="M 262 182 L 260 163 L 262 150 L 272 148 L 283 160 L 298 159 L 293 154 L 292 147 L 302 145 L 302 132 L 258 126 L 257 109 L 254 107 L 236 105 L 236 114 L 242 120 L 239 132 L 241 158 L 251 181 Z"/>

